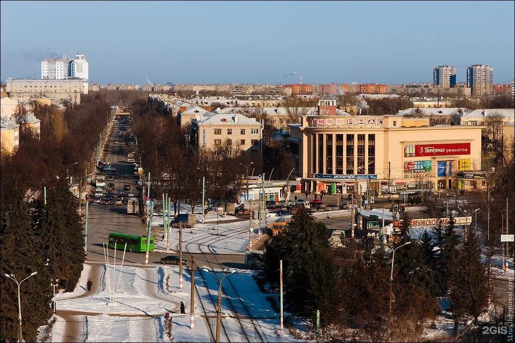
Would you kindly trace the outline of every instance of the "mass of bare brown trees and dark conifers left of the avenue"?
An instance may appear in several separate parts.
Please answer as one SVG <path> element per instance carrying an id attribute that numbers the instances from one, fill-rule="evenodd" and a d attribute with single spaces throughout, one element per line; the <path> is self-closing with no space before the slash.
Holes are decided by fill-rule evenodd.
<path id="1" fill-rule="evenodd" d="M 20 281 L 38 272 L 21 286 L 22 328 L 27 341 L 36 340 L 38 328 L 50 317 L 50 279 L 59 279 L 59 288 L 68 291 L 77 284 L 84 261 L 84 237 L 66 167 L 78 162 L 69 172 L 76 179 L 83 176 L 111 112 L 108 104 L 94 95 L 83 96 L 81 104 L 68 104 L 64 111 L 40 104 L 33 111 L 41 120 L 41 139 L 30 129 L 21 130 L 19 149 L 2 154 L 0 162 L 2 341 L 17 338 L 19 331 L 18 288 L 5 274 Z"/>

